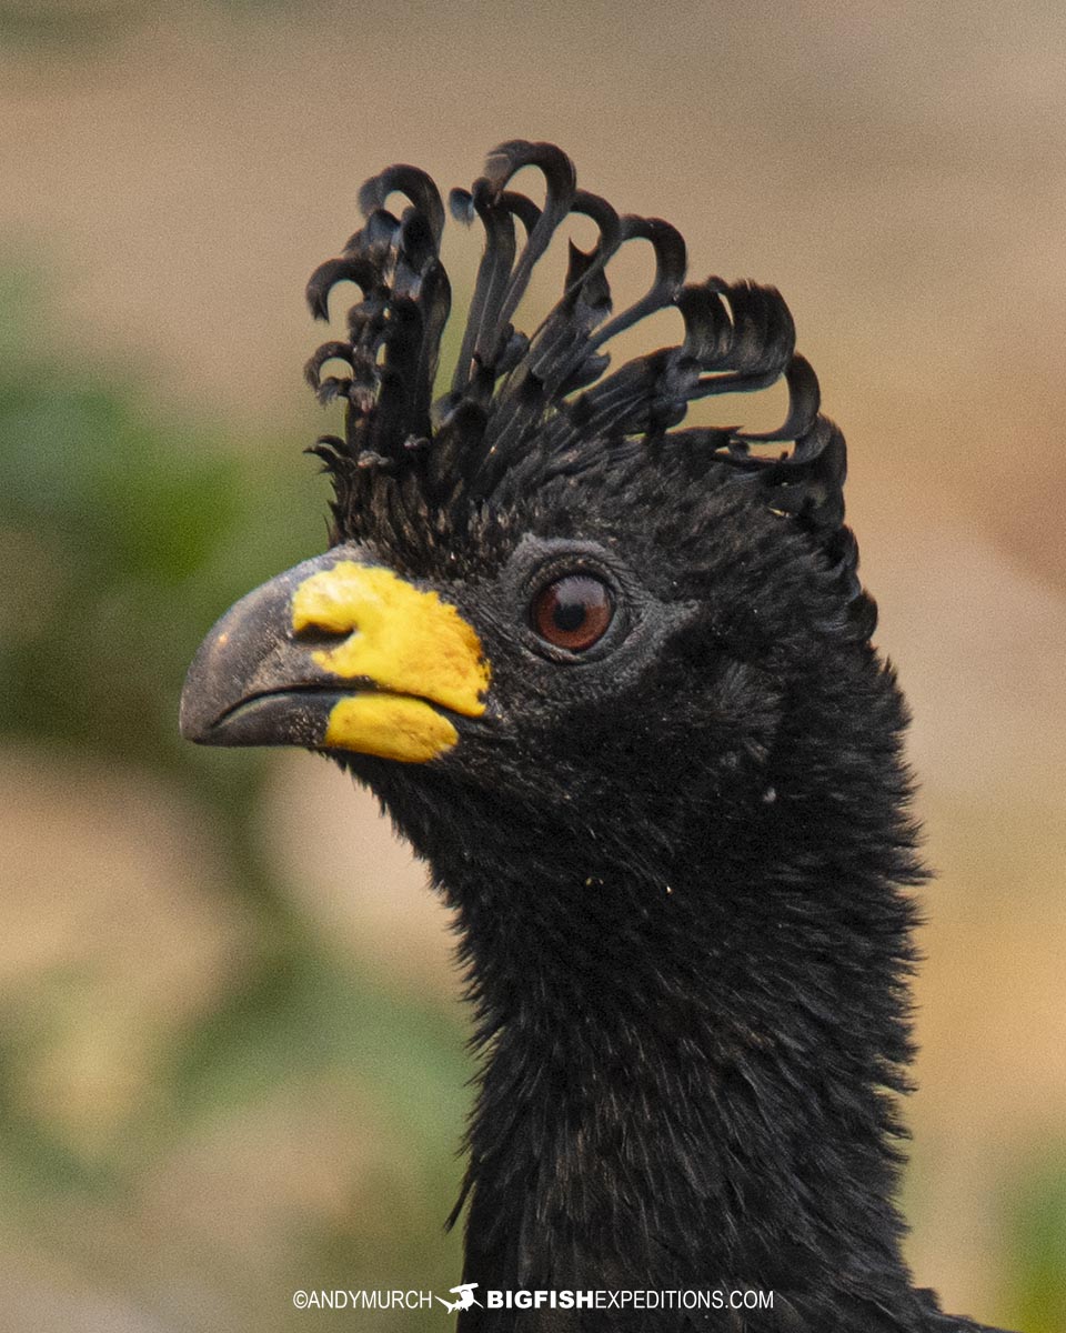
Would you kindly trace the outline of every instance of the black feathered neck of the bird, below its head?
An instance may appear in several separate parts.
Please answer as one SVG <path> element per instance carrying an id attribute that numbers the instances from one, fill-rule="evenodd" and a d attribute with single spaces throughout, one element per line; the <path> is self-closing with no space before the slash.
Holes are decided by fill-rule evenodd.
<path id="1" fill-rule="evenodd" d="M 490 804 L 465 810 L 477 856 L 428 849 L 485 1050 L 469 1280 L 721 1281 L 797 1308 L 801 1280 L 823 1313 L 861 1270 L 870 1298 L 911 1298 L 891 1202 L 905 782 L 889 765 L 842 804 L 829 776 L 776 781 L 756 817 L 704 814 L 654 869 L 558 828 L 501 832 Z"/>

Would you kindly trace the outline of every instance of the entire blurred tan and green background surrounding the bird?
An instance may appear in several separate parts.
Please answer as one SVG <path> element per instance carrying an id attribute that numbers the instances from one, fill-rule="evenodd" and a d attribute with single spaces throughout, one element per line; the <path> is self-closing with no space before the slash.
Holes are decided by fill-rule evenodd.
<path id="1" fill-rule="evenodd" d="M 0 0 L 0 1333 L 274 1333 L 312 1317 L 297 1286 L 458 1281 L 442 909 L 330 765 L 197 752 L 176 710 L 216 615 L 324 545 L 302 287 L 358 184 L 469 184 L 513 136 L 670 219 L 696 277 L 789 300 L 938 870 L 910 1261 L 949 1309 L 1061 1333 L 1066 12 L 1041 0 Z M 461 293 L 477 241 L 449 245 Z"/>

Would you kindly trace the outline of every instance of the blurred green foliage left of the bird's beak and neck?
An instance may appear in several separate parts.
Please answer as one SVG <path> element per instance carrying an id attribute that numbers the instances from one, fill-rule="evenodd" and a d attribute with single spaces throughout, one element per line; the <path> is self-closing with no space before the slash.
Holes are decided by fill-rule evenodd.
<path id="1" fill-rule="evenodd" d="M 117 781 L 151 774 L 195 810 L 224 866 L 220 892 L 252 926 L 211 1002 L 153 1050 L 152 1097 L 92 1149 L 24 1094 L 56 1025 L 77 1021 L 69 969 L 0 990 L 0 1238 L 168 1330 L 305 1326 L 296 1288 L 446 1290 L 460 1274 L 442 1222 L 460 1177 L 464 1033 L 322 952 L 257 850 L 269 760 L 205 753 L 176 729 L 185 668 L 215 617 L 321 549 L 325 488 L 292 443 L 235 449 L 219 431 L 167 420 L 145 384 L 57 372 L 27 351 L 37 307 L 25 280 L 0 280 L 0 728 L 60 772 L 77 758 Z M 181 1178 L 189 1158 L 195 1173 L 219 1126 L 240 1140 L 245 1120 L 306 1085 L 336 1097 L 340 1125 L 358 1106 L 374 1130 L 358 1181 L 337 1182 L 328 1225 L 297 1185 L 280 1246 L 264 1254 L 235 1236 L 212 1252 L 168 1208 L 160 1176 Z M 292 1125 L 300 1138 L 298 1110 Z M 197 1188 L 219 1188 L 211 1170 Z M 390 1329 L 416 1325 L 425 1314 L 388 1316 Z"/>

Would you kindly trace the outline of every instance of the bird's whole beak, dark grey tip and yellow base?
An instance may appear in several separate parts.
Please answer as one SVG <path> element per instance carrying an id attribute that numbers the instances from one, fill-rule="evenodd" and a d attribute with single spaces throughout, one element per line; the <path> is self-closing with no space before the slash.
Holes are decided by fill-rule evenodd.
<path id="1" fill-rule="evenodd" d="M 485 712 L 488 685 L 481 640 L 450 603 L 336 547 L 215 625 L 185 678 L 181 734 L 420 764 L 458 741 L 449 714 Z"/>

